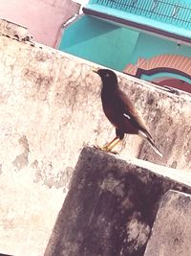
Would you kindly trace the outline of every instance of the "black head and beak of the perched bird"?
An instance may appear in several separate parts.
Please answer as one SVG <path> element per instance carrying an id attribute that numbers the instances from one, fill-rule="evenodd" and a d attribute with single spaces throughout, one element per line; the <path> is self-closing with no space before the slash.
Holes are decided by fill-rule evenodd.
<path id="1" fill-rule="evenodd" d="M 117 87 L 117 75 L 110 69 L 97 69 L 93 70 L 103 83 L 103 86 Z"/>

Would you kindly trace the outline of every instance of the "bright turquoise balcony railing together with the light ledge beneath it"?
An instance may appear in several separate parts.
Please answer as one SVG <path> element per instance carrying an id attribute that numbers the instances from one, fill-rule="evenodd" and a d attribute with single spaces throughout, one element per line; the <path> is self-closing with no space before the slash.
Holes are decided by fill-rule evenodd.
<path id="1" fill-rule="evenodd" d="M 86 8 L 191 38 L 190 1 L 92 0 Z"/>

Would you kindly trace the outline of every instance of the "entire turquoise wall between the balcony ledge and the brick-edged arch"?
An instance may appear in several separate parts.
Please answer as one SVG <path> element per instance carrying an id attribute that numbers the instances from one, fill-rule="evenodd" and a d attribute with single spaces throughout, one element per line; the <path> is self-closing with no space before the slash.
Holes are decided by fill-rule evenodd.
<path id="1" fill-rule="evenodd" d="M 162 54 L 191 58 L 191 47 L 84 15 L 62 36 L 59 50 L 122 71 L 138 58 Z M 176 76 L 176 75 L 175 75 Z"/>

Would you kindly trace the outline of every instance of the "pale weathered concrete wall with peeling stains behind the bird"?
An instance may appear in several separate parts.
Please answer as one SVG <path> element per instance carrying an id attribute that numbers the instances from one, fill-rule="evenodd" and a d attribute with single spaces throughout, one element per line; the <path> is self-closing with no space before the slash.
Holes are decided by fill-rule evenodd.
<path id="1" fill-rule="evenodd" d="M 2 35 L 0 59 L 0 252 L 43 255 L 83 145 L 102 145 L 115 130 L 94 63 Z M 118 76 L 164 154 L 128 136 L 122 156 L 189 169 L 190 96 Z"/>

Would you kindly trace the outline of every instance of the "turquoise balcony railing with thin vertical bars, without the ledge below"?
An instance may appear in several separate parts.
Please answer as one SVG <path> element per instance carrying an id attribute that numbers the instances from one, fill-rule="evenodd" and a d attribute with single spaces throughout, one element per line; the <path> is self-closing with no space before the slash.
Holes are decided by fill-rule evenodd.
<path id="1" fill-rule="evenodd" d="M 187 30 L 191 28 L 191 5 L 179 1 L 175 3 L 172 0 L 92 0 L 90 4 L 134 13 Z"/>

